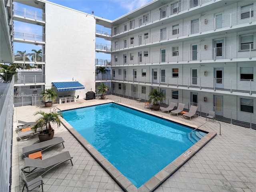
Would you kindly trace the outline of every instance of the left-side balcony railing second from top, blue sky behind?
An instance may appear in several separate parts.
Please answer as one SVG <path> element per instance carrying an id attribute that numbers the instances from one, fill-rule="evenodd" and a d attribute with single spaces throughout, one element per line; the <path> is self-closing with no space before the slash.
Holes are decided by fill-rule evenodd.
<path id="1" fill-rule="evenodd" d="M 33 44 L 45 44 L 46 34 L 36 34 L 26 31 L 14 30 L 14 41 L 24 43 L 24 41 L 28 41 L 28 43 Z"/>

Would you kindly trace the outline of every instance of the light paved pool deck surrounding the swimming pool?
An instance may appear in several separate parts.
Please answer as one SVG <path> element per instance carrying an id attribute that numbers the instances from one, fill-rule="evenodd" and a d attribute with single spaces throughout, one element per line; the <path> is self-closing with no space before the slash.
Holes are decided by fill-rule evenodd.
<path id="1" fill-rule="evenodd" d="M 51 108 L 58 107 L 60 110 L 67 110 L 72 108 L 79 108 L 84 106 L 91 106 L 96 104 L 114 102 L 117 96 L 106 96 L 105 100 L 83 100 L 79 99 L 76 103 L 69 104 L 54 104 Z M 130 106 L 137 110 L 142 110 L 156 116 L 173 120 L 179 123 L 184 123 L 192 127 L 197 127 L 206 122 L 205 118 L 198 117 L 189 119 L 182 119 L 182 116 L 175 116 L 161 111 L 154 111 L 144 108 L 143 102 L 136 102 L 126 98 L 120 98 L 121 104 Z M 38 141 L 35 137 L 28 141 L 16 141 L 17 133 L 15 128 L 20 121 L 31 122 L 35 121 L 37 116 L 34 112 L 43 110 L 50 112 L 49 108 L 44 106 L 22 106 L 14 109 L 14 132 L 13 132 L 13 155 L 12 155 L 12 191 L 18 192 L 22 190 L 23 182 L 19 175 L 20 170 L 24 167 L 24 160 L 21 157 L 22 147 L 31 145 Z M 65 121 L 65 120 L 64 120 Z M 216 121 L 218 122 L 218 121 Z M 221 135 L 219 123 L 206 123 L 202 127 L 211 133 L 216 133 L 216 136 L 200 149 L 197 153 L 182 165 L 174 174 L 172 174 L 164 183 L 155 190 L 156 192 L 179 192 L 179 191 L 209 191 L 209 192 L 223 192 L 223 191 L 238 191 L 238 192 L 255 192 L 256 191 L 256 130 L 240 127 L 228 123 L 221 123 Z M 68 127 L 68 124 L 66 125 Z M 48 192 L 103 192 L 103 191 L 123 191 L 122 188 L 115 182 L 115 180 L 104 170 L 99 163 L 94 160 L 88 151 L 94 151 L 94 148 L 84 149 L 82 145 L 87 147 L 86 141 L 78 142 L 76 138 L 61 125 L 55 129 L 54 137 L 62 137 L 64 139 L 65 148 L 61 144 L 52 147 L 42 153 L 42 158 L 45 159 L 62 151 L 70 151 L 73 158 L 74 166 L 69 161 L 62 163 L 58 168 L 53 168 L 43 176 L 44 191 Z M 70 128 L 70 127 L 69 127 Z M 71 128 L 72 129 L 72 128 Z M 79 137 L 79 135 L 78 135 Z M 85 142 L 85 143 L 84 143 Z M 199 144 L 199 143 L 198 143 Z M 195 146 L 195 145 L 194 145 Z M 199 146 L 198 146 L 199 147 Z M 94 154 L 95 153 L 95 154 Z M 96 150 L 91 153 L 96 156 L 99 154 Z M 191 155 L 192 153 L 190 153 Z M 180 156 L 181 159 L 184 156 Z M 102 157 L 99 157 L 102 159 Z M 184 160 L 184 159 L 183 159 Z M 104 161 L 102 159 L 101 161 Z M 103 163 L 104 164 L 104 163 Z M 106 163 L 106 167 L 112 169 L 111 165 Z M 173 167 L 172 167 L 173 168 Z M 132 184 L 126 181 L 122 186 L 125 186 L 127 191 L 150 191 L 154 189 L 155 184 L 170 174 L 170 170 L 166 168 L 152 179 L 152 182 L 147 182 L 143 187 L 134 188 Z M 114 170 L 116 173 L 116 170 Z M 110 172 L 110 174 L 112 174 Z M 122 182 L 126 178 L 116 173 L 112 174 L 118 182 Z M 158 179 L 158 180 L 156 180 Z M 35 191 L 41 191 L 41 188 L 36 188 Z"/>

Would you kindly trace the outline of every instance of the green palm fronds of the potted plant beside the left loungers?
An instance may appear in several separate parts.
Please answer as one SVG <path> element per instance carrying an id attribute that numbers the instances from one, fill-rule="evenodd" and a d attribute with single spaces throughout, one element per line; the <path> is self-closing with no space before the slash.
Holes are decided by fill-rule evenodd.
<path id="1" fill-rule="evenodd" d="M 52 124 L 57 124 L 58 128 L 60 127 L 60 118 L 62 115 L 58 113 L 46 113 L 44 111 L 38 111 L 34 114 L 34 116 L 40 114 L 41 116 L 36 119 L 36 124 L 32 127 L 32 129 L 36 132 L 38 128 L 43 131 L 43 127 L 46 126 L 45 133 L 51 133 L 52 132 Z"/>

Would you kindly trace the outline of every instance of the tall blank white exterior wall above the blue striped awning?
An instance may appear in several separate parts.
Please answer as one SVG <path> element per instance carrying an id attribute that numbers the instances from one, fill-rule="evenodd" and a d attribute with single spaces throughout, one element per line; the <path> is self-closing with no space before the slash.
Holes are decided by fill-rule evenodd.
<path id="1" fill-rule="evenodd" d="M 95 90 L 95 19 L 49 2 L 45 10 L 46 88 L 52 82 L 78 80 L 85 89 L 69 94 L 84 98 L 86 92 Z"/>

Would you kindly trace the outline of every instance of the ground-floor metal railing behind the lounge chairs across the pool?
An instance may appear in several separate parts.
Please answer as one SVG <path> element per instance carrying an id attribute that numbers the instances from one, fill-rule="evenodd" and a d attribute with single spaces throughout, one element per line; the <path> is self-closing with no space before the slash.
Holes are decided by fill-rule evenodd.
<path id="1" fill-rule="evenodd" d="M 132 92 L 132 91 L 126 91 L 126 90 L 120 90 L 117 88 L 113 89 L 110 88 L 109 93 L 115 96 L 119 96 L 122 98 L 129 98 L 132 100 L 136 100 L 138 98 L 142 98 L 141 102 L 147 102 L 148 101 L 148 93 L 142 94 L 138 92 Z M 179 103 L 185 104 L 184 111 L 189 111 L 189 108 L 191 105 L 198 106 L 197 112 L 199 112 L 199 116 L 206 117 L 206 113 L 209 113 L 209 111 L 215 111 L 216 113 L 216 120 L 222 121 L 234 125 L 239 125 L 242 127 L 248 127 L 252 129 L 256 129 L 256 113 L 249 113 L 249 112 L 242 112 L 238 110 L 233 110 L 229 108 L 216 108 L 214 106 L 210 105 L 204 105 L 200 103 L 192 103 L 187 102 L 185 100 L 177 100 L 172 98 L 166 98 L 163 103 L 160 103 L 160 106 L 167 107 L 170 102 L 176 103 L 176 106 L 178 106 Z M 215 122 L 214 122 L 215 123 Z"/>

